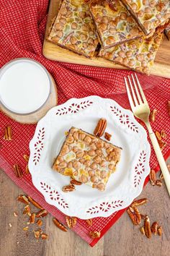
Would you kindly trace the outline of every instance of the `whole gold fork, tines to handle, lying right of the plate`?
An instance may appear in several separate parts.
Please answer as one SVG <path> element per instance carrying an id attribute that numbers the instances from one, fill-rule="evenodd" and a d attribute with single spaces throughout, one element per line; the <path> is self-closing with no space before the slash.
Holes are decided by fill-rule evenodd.
<path id="1" fill-rule="evenodd" d="M 151 124 L 149 122 L 150 108 L 148 106 L 148 102 L 146 101 L 146 96 L 143 93 L 143 90 L 141 88 L 137 75 L 135 74 L 135 77 L 133 77 L 133 74 L 132 74 L 131 76 L 132 76 L 132 79 L 130 79 L 129 76 L 128 78 L 124 77 L 128 98 L 130 101 L 130 106 L 132 108 L 134 116 L 138 117 L 138 119 L 142 120 L 146 124 L 146 127 L 149 132 L 149 137 L 151 139 L 153 148 L 155 150 L 156 157 L 158 159 L 158 163 L 161 168 L 162 174 L 164 176 L 166 187 L 168 189 L 169 196 L 170 196 L 170 174 L 166 166 L 166 162 L 164 161 L 164 157 L 161 153 L 161 149 L 158 145 L 156 135 L 154 134 L 151 128 Z"/>

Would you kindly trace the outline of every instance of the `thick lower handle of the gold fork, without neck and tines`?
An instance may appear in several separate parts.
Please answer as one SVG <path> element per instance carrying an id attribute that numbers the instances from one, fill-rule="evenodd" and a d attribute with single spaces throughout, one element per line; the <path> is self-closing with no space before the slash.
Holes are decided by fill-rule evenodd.
<path id="1" fill-rule="evenodd" d="M 160 147 L 158 145 L 158 140 L 156 139 L 156 135 L 154 134 L 153 131 L 151 131 L 151 133 L 149 132 L 149 137 L 151 139 L 153 148 L 155 150 L 156 157 L 158 159 L 158 163 L 159 163 L 159 166 L 161 168 L 162 174 L 164 176 L 164 181 L 166 183 L 166 187 L 168 189 L 169 196 L 170 196 L 170 174 L 169 174 L 169 170 L 168 170 L 168 168 L 166 166 L 166 162 L 165 162 L 164 157 L 163 157 L 163 155 L 161 153 L 161 149 L 160 149 Z"/>

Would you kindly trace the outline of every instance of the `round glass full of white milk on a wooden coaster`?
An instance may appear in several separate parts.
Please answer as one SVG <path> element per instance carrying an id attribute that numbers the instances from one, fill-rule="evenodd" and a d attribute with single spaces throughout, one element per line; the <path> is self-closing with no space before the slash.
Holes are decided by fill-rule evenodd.
<path id="1" fill-rule="evenodd" d="M 0 69 L 0 103 L 14 114 L 40 110 L 50 95 L 50 74 L 32 59 L 14 59 Z"/>

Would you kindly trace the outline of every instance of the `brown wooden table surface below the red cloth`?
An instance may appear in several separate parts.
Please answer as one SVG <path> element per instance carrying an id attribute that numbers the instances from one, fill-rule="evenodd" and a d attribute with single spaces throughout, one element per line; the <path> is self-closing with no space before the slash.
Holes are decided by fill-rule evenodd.
<path id="1" fill-rule="evenodd" d="M 170 161 L 169 161 L 170 162 Z M 43 231 L 49 234 L 48 241 L 36 241 L 30 232 L 26 236 L 22 228 L 24 205 L 16 198 L 22 194 L 4 171 L 0 170 L 0 256 L 169 256 L 170 255 L 170 204 L 166 187 L 147 184 L 139 198 L 147 197 L 147 205 L 139 207 L 140 213 L 148 214 L 164 229 L 163 236 L 147 239 L 133 226 L 127 213 L 112 226 L 107 234 L 91 248 L 73 231 L 67 233 L 56 228 L 52 216 L 43 219 Z M 19 213 L 14 217 L 13 212 Z M 11 227 L 9 226 L 11 223 Z"/>

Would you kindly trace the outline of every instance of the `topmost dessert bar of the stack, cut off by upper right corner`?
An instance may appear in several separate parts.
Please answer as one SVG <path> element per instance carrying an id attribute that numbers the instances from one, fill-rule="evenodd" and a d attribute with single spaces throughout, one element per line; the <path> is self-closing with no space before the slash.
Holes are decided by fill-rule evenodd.
<path id="1" fill-rule="evenodd" d="M 169 0 L 121 0 L 139 27 L 148 35 L 170 18 Z"/>

